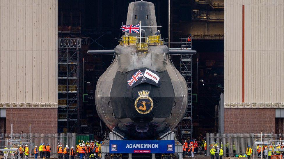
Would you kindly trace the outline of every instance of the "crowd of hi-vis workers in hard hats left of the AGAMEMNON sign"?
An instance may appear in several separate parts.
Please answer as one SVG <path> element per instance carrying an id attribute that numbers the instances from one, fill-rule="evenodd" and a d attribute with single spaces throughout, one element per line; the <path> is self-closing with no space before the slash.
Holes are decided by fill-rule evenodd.
<path id="1" fill-rule="evenodd" d="M 58 153 L 58 159 L 74 159 L 75 157 L 80 159 L 97 159 L 101 157 L 101 144 L 102 142 L 99 142 L 97 140 L 91 140 L 91 141 L 83 141 L 82 143 L 79 143 L 75 148 L 72 146 L 69 148 L 68 145 L 64 146 L 60 145 L 58 143 L 57 145 L 57 153 Z M 11 147 L 12 149 L 13 147 Z M 4 147 L 4 149 L 8 149 L 7 146 Z M 23 159 L 23 156 L 25 155 L 25 159 L 29 158 L 29 146 L 25 145 L 23 147 L 22 145 L 18 148 L 18 151 L 15 153 L 14 151 L 3 151 L 4 153 L 4 159 L 8 159 L 8 155 L 10 154 L 11 157 L 17 156 L 19 154 L 19 157 Z M 51 147 L 49 144 L 45 145 L 45 143 L 40 144 L 40 146 L 35 146 L 33 149 L 33 154 L 35 156 L 35 159 L 41 158 L 50 158 L 51 153 Z"/>

